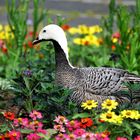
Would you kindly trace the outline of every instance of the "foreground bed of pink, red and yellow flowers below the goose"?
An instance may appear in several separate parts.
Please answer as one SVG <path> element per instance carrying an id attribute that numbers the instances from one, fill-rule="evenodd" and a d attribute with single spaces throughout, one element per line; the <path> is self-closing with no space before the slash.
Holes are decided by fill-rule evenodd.
<path id="1" fill-rule="evenodd" d="M 56 139 L 56 140 L 138 140 L 140 113 L 134 109 L 119 110 L 118 103 L 107 99 L 101 104 L 88 100 L 81 107 L 86 111 L 74 114 L 68 118 L 55 116 L 52 128 L 48 128 L 42 113 L 33 110 L 28 116 L 16 118 L 12 112 L 3 113 L 7 132 L 0 139 Z M 119 133 L 118 133 L 119 132 Z"/>

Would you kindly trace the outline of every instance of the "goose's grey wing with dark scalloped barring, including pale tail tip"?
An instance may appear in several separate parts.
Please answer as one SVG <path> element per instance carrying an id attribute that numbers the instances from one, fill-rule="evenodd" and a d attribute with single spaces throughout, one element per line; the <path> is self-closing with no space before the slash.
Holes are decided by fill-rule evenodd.
<path id="1" fill-rule="evenodd" d="M 83 68 L 81 73 L 79 86 L 83 86 L 84 92 L 96 95 L 109 96 L 124 89 L 124 82 L 140 82 L 140 77 L 115 68 Z"/>

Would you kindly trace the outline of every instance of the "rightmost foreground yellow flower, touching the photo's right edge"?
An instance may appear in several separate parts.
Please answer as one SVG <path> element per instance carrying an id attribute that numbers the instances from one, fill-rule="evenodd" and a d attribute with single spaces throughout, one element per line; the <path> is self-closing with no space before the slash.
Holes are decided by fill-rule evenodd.
<path id="1" fill-rule="evenodd" d="M 123 118 L 140 119 L 140 114 L 137 110 L 123 110 L 121 115 Z"/>

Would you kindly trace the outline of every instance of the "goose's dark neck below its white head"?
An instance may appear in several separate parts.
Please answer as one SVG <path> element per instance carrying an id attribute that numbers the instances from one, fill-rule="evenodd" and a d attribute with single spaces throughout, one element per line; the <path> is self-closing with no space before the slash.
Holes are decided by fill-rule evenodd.
<path id="1" fill-rule="evenodd" d="M 68 54 L 64 52 L 58 42 L 53 41 L 54 49 L 55 49 L 55 60 L 56 60 L 56 69 L 58 70 L 67 70 L 72 68 Z"/>

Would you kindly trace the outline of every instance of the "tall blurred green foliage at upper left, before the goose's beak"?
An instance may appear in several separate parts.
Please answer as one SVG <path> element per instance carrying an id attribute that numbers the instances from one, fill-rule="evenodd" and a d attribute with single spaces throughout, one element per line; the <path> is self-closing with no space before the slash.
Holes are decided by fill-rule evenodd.
<path id="1" fill-rule="evenodd" d="M 32 49 L 29 50 L 32 47 L 32 40 L 37 34 L 40 23 L 46 17 L 46 10 L 39 10 L 39 5 L 43 5 L 44 2 L 44 0 L 33 0 L 33 27 L 29 28 L 27 21 L 32 22 L 31 19 L 28 19 L 30 1 L 19 0 L 18 3 L 16 0 L 6 1 L 9 26 L 3 27 L 3 31 L 0 30 L 0 42 L 4 41 L 4 46 L 0 43 L 2 46 L 0 55 L 3 56 L 0 63 L 2 66 L 0 75 L 2 77 L 15 77 L 16 71 L 20 71 L 22 60 L 26 59 L 26 53 L 32 51 Z M 28 42 L 27 31 L 32 32 L 32 38 Z M 27 45 L 25 46 L 26 42 Z"/>

